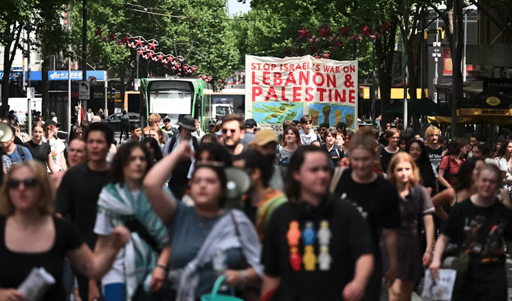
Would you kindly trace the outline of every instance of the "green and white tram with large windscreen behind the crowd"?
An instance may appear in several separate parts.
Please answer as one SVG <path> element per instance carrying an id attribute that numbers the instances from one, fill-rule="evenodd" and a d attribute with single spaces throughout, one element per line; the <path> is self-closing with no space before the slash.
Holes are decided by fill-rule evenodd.
<path id="1" fill-rule="evenodd" d="M 142 78 L 140 120 L 148 124 L 152 113 L 169 116 L 177 124 L 183 115 L 199 120 L 203 131 L 212 119 L 212 85 L 199 78 Z"/>

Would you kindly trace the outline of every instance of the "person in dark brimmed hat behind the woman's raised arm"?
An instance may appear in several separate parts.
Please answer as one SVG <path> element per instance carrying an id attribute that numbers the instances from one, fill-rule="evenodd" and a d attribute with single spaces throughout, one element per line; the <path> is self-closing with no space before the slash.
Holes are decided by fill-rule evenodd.
<path id="1" fill-rule="evenodd" d="M 192 151 L 197 150 L 199 143 L 197 142 L 197 138 L 192 136 L 192 131 L 196 129 L 194 118 L 190 115 L 184 115 L 181 121 L 178 122 L 178 125 L 179 133 L 167 140 L 164 146 L 164 156 L 175 152 L 181 143 L 190 144 Z M 172 172 L 172 176 L 169 180 L 169 189 L 177 199 L 181 199 L 183 194 L 185 194 L 189 176 L 192 175 L 192 171 L 194 170 L 194 161 L 193 158 L 180 161 L 175 171 Z"/>

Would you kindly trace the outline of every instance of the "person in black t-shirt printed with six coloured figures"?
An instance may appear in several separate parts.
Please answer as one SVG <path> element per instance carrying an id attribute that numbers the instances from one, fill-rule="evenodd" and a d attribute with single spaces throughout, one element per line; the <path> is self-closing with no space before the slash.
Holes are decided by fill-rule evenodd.
<path id="1" fill-rule="evenodd" d="M 328 194 L 330 175 L 329 158 L 318 146 L 293 153 L 289 201 L 266 227 L 261 300 L 352 301 L 364 295 L 374 267 L 370 230 L 353 205 Z"/>

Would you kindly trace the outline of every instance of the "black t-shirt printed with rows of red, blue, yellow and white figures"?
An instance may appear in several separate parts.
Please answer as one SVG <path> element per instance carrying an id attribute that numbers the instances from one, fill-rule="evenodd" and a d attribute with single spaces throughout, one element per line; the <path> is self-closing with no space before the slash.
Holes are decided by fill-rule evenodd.
<path id="1" fill-rule="evenodd" d="M 316 263 L 314 271 L 305 271 L 304 238 L 299 239 L 298 255 L 300 271 L 293 271 L 290 263 L 291 250 L 287 233 L 293 221 L 299 229 L 305 229 L 307 221 L 314 225 L 316 240 L 313 243 Z M 329 222 L 331 238 L 329 270 L 320 269 L 320 227 Z M 364 254 L 372 253 L 368 223 L 350 203 L 331 198 L 320 207 L 309 203 L 287 202 L 280 205 L 271 216 L 265 234 L 263 264 L 265 274 L 280 277 L 276 300 L 342 300 L 345 285 L 353 278 L 355 262 Z"/>

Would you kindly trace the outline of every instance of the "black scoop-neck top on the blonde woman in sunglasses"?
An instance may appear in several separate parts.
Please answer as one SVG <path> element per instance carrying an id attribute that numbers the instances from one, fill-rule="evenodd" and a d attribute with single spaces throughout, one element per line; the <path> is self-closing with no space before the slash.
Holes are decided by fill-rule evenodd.
<path id="1" fill-rule="evenodd" d="M 48 252 L 12 252 L 5 246 L 5 217 L 0 217 L 0 287 L 17 288 L 34 267 L 44 267 L 56 280 L 42 301 L 65 301 L 62 285 L 64 258 L 68 251 L 82 245 L 76 227 L 65 219 L 54 217 L 55 241 Z"/>

